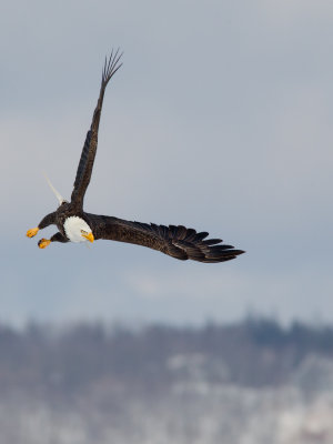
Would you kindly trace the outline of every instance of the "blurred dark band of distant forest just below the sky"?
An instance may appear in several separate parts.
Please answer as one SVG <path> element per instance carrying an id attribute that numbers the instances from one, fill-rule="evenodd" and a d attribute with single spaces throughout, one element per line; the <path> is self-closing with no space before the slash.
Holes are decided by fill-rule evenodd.
<path id="1" fill-rule="evenodd" d="M 333 359 L 333 327 L 246 319 L 202 327 L 0 326 L 0 394 L 72 396 L 102 382 L 150 396 L 178 382 L 282 385 L 309 356 Z"/>

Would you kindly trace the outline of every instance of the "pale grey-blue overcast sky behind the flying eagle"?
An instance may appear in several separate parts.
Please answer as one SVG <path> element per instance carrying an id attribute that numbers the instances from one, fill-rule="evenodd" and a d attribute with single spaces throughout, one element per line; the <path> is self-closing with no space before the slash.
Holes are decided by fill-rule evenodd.
<path id="1" fill-rule="evenodd" d="M 332 1 L 1 6 L 0 321 L 333 321 Z M 24 236 L 69 198 L 112 48 L 89 212 L 246 254 L 181 262 Z"/>

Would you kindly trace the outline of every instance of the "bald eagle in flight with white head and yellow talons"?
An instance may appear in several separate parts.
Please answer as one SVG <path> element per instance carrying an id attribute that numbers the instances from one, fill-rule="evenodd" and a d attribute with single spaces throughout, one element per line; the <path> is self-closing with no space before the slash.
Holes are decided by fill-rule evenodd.
<path id="1" fill-rule="evenodd" d="M 57 225 L 59 231 L 49 240 L 41 239 L 38 242 L 40 249 L 44 249 L 51 242 L 93 242 L 98 239 L 107 239 L 148 246 L 175 259 L 192 259 L 199 262 L 223 262 L 244 253 L 242 250 L 235 250 L 232 245 L 221 243 L 221 239 L 206 239 L 209 235 L 206 232 L 198 233 L 195 230 L 186 229 L 183 225 L 165 226 L 154 223 L 130 222 L 83 211 L 83 199 L 90 182 L 98 147 L 104 92 L 109 81 L 122 65 L 121 57 L 122 54 L 118 50 L 112 51 L 109 59 L 105 58 L 100 95 L 82 149 L 70 202 L 64 200 L 49 182 L 59 200 L 59 208 L 53 213 L 46 215 L 37 228 L 28 230 L 27 236 L 33 238 L 39 230 L 53 224 Z"/>

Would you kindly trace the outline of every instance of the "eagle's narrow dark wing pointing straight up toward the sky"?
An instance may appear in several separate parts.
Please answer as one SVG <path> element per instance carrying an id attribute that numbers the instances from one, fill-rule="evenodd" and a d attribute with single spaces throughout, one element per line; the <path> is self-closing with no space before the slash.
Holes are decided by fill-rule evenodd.
<path id="1" fill-rule="evenodd" d="M 113 51 L 111 52 L 109 60 L 105 58 L 101 89 L 100 89 L 100 97 L 95 110 L 93 112 L 90 130 L 87 133 L 85 142 L 82 149 L 81 159 L 77 171 L 74 189 L 71 195 L 71 202 L 79 209 L 82 209 L 83 198 L 87 188 L 89 185 L 93 168 L 93 161 L 98 145 L 98 132 L 99 132 L 104 92 L 110 79 L 122 65 L 122 63 L 119 63 L 121 56 L 122 53 L 119 53 L 118 50 L 114 53 Z"/>

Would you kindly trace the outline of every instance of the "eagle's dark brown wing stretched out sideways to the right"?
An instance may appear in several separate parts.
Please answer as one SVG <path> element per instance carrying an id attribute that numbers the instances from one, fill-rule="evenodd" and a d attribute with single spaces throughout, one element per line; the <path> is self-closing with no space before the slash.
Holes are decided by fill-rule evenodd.
<path id="1" fill-rule="evenodd" d="M 94 239 L 128 242 L 161 251 L 185 261 L 224 262 L 244 253 L 232 245 L 222 244 L 221 239 L 209 239 L 206 232 L 196 233 L 182 225 L 157 225 L 154 223 L 129 222 L 107 215 L 85 213 Z"/>

